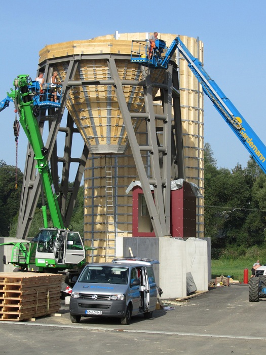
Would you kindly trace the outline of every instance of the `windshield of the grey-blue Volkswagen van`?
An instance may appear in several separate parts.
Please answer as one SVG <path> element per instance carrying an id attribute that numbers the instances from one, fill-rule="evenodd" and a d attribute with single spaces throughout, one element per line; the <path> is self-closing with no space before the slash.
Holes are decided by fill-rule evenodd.
<path id="1" fill-rule="evenodd" d="M 118 283 L 127 285 L 128 268 L 111 266 L 87 266 L 79 282 Z"/>

